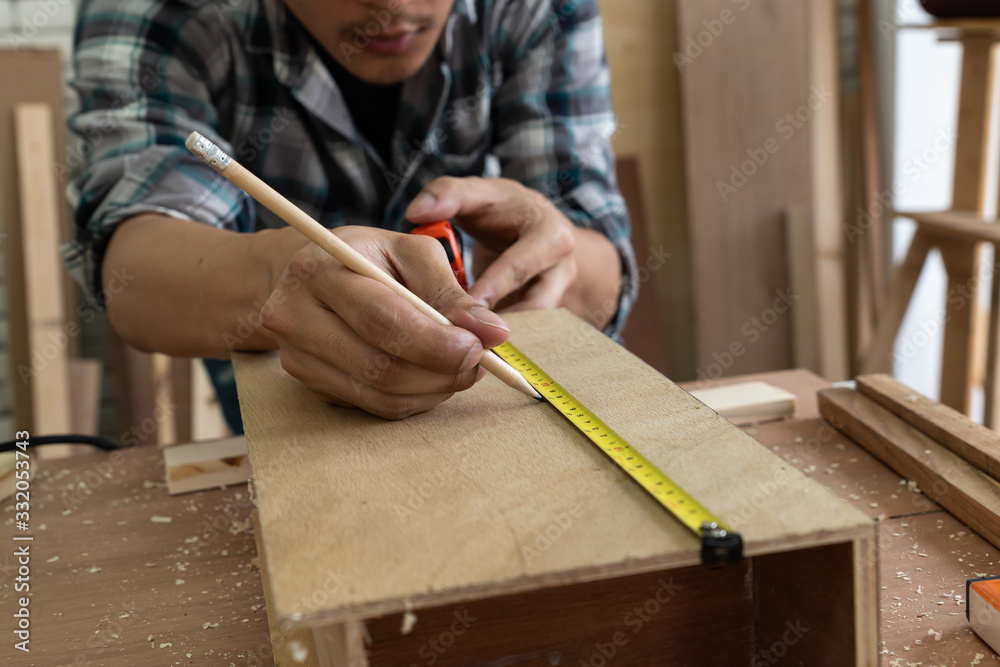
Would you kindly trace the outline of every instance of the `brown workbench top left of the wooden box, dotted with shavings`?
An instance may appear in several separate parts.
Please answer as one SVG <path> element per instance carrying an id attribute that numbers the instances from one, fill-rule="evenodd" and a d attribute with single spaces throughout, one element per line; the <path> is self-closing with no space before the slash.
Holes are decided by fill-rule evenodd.
<path id="1" fill-rule="evenodd" d="M 152 446 L 32 465 L 31 653 L 13 664 L 272 664 L 246 487 L 171 497 Z M 5 548 L 9 613 L 16 566 Z"/>

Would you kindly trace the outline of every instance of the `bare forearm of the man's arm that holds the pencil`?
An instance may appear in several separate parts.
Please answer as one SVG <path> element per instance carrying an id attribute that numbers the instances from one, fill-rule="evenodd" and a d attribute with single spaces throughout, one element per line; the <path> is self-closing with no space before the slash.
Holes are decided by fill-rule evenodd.
<path id="1" fill-rule="evenodd" d="M 107 308 L 112 327 L 144 350 L 227 358 L 233 350 L 277 345 L 260 326 L 260 309 L 278 274 L 304 244 L 294 229 L 240 234 L 158 215 L 115 231 L 102 265 L 129 276 Z"/>

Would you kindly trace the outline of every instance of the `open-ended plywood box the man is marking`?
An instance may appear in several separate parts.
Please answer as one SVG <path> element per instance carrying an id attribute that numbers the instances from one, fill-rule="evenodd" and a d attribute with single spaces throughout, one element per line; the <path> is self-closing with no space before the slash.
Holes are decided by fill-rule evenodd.
<path id="1" fill-rule="evenodd" d="M 701 565 L 699 540 L 554 408 L 492 376 L 389 422 L 241 354 L 279 664 L 876 664 L 867 517 L 569 313 L 507 319 L 742 534 L 743 562 Z"/>

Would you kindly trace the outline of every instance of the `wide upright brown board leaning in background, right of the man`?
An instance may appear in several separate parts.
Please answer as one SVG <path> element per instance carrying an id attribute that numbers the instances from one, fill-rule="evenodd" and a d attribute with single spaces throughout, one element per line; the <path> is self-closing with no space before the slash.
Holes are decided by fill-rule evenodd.
<path id="1" fill-rule="evenodd" d="M 788 269 L 774 258 L 784 255 L 784 212 L 793 204 L 813 211 L 815 203 L 812 130 L 794 114 L 804 106 L 811 120 L 810 85 L 834 83 L 810 80 L 809 11 L 781 0 L 747 11 L 730 0 L 678 2 L 681 45 L 693 44 L 697 56 L 681 69 L 681 100 L 699 377 L 718 377 L 713 368 L 738 375 L 792 365 L 791 318 L 773 308 L 776 293 L 789 287 Z M 723 12 L 732 17 L 728 25 Z M 700 47 L 699 34 L 711 37 L 713 22 L 724 32 Z M 766 330 L 748 337 L 744 326 L 762 313 Z M 730 352 L 736 344 L 742 354 Z"/>

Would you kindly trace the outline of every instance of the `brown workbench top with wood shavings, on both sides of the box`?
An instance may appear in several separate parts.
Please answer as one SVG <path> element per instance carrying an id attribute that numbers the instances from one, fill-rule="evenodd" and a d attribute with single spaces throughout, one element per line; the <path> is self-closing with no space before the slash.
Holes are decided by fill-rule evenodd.
<path id="1" fill-rule="evenodd" d="M 815 392 L 829 385 L 815 375 L 682 386 L 745 380 L 799 399 L 790 420 L 745 430 L 878 520 L 882 664 L 1000 662 L 967 629 L 964 604 L 965 580 L 1000 571 L 1000 552 L 821 421 Z M 246 487 L 171 497 L 160 450 L 111 461 L 94 453 L 33 462 L 32 651 L 3 654 L 17 653 L 16 665 L 272 664 Z M 13 505 L 0 504 L 7 540 Z M 13 613 L 16 561 L 13 548 L 3 553 L 0 609 Z"/>

